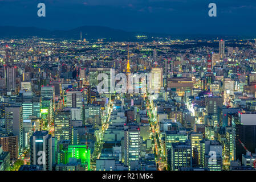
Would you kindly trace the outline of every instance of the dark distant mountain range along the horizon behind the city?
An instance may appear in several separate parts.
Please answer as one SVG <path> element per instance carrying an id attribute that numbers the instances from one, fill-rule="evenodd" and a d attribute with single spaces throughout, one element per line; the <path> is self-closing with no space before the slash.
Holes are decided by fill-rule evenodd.
<path id="1" fill-rule="evenodd" d="M 80 32 L 82 38 L 87 40 L 103 39 L 108 41 L 150 41 L 152 38 L 217 38 L 226 37 L 225 35 L 169 35 L 157 34 L 149 32 L 128 32 L 114 28 L 103 26 L 82 26 L 71 30 L 47 30 L 36 27 L 14 27 L 14 26 L 0 26 L 0 38 L 29 38 L 37 36 L 39 38 L 56 38 L 56 39 L 80 39 Z M 137 39 L 137 35 L 145 35 L 147 39 Z M 237 38 L 237 36 L 232 36 Z M 231 36 L 229 36 L 231 38 Z"/>

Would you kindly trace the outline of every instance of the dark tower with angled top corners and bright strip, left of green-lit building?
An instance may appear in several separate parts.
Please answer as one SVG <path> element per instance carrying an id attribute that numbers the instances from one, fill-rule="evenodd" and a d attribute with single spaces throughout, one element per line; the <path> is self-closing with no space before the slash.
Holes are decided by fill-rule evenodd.
<path id="1" fill-rule="evenodd" d="M 30 164 L 52 170 L 52 137 L 48 131 L 35 131 L 30 138 Z"/>

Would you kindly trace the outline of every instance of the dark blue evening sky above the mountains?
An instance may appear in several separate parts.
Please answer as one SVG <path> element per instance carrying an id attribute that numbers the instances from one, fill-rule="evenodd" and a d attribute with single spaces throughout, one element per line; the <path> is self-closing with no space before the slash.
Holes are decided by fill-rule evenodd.
<path id="1" fill-rule="evenodd" d="M 37 5 L 46 4 L 46 17 Z M 208 16 L 216 3 L 217 17 Z M 99 25 L 127 31 L 256 36 L 255 0 L 0 0 L 0 26 L 67 30 Z"/>

